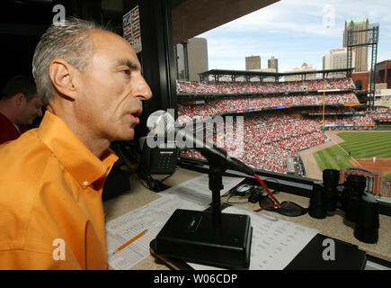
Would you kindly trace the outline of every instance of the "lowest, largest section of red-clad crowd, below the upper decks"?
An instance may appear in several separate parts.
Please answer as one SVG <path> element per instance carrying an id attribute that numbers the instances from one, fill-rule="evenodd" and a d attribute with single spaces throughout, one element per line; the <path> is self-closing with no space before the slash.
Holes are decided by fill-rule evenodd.
<path id="1" fill-rule="evenodd" d="M 368 116 L 326 115 L 324 119 L 326 125 L 368 123 L 373 123 Z M 289 158 L 296 157 L 301 149 L 314 147 L 327 140 L 322 125 L 322 117 L 298 117 L 282 111 L 262 112 L 253 116 L 244 115 L 243 130 L 230 130 L 223 136 L 224 139 L 217 139 L 216 135 L 221 134 L 216 133 L 209 135 L 208 140 L 225 148 L 229 156 L 237 157 L 248 166 L 287 173 Z M 220 127 L 218 131 L 222 129 L 226 130 Z M 194 149 L 183 151 L 182 156 L 203 158 Z"/>

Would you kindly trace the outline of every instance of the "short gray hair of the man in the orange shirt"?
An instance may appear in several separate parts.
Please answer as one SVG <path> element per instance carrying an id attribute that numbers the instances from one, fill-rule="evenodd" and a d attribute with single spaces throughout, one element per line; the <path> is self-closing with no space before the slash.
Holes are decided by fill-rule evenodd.
<path id="1" fill-rule="evenodd" d="M 56 88 L 49 77 L 49 65 L 54 58 L 62 58 L 79 71 L 85 71 L 93 57 L 91 30 L 109 29 L 77 18 L 53 23 L 40 37 L 32 58 L 32 75 L 42 103 L 52 100 Z"/>

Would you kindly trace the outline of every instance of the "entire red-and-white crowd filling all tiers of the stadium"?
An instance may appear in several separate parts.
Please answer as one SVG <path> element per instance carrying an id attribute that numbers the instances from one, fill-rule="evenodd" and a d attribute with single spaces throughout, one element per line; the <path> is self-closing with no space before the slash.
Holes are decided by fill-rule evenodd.
<path id="1" fill-rule="evenodd" d="M 376 119 L 391 119 L 389 109 L 368 112 L 354 106 L 360 104 L 357 96 L 351 91 L 343 91 L 353 88 L 351 78 L 346 77 L 326 79 L 325 89 L 338 89 L 339 92 L 269 94 L 244 96 L 240 99 L 228 95 L 224 100 L 207 100 L 205 103 L 194 105 L 179 104 L 178 120 L 180 123 L 186 123 L 224 113 L 243 116 L 242 129 L 235 126 L 234 130 L 227 130 L 224 126 L 218 127 L 215 128 L 214 135 L 209 135 L 208 140 L 225 148 L 229 156 L 240 159 L 248 166 L 287 173 L 292 170 L 291 159 L 297 157 L 299 150 L 314 147 L 328 140 L 323 125 L 367 126 L 374 125 Z M 289 93 L 322 89 L 323 80 L 280 83 L 177 82 L 177 91 L 183 94 Z M 323 113 L 324 100 L 326 106 L 323 117 L 319 116 L 319 112 Z M 327 106 L 330 104 L 335 106 Z M 349 106 L 351 104 L 353 106 Z M 283 109 L 288 107 L 289 112 Z M 261 110 L 263 111 L 256 112 Z M 254 112 L 247 113 L 251 111 Z M 203 158 L 195 149 L 183 150 L 182 156 Z"/>

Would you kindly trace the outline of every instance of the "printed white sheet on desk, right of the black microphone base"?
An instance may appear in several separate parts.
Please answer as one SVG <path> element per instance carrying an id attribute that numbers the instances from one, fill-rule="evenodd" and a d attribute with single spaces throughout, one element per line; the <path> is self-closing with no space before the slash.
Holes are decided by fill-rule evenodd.
<path id="1" fill-rule="evenodd" d="M 255 213 L 235 206 L 223 210 L 225 213 L 246 214 L 251 218 L 253 239 L 251 246 L 250 270 L 282 270 L 289 265 L 317 230 L 287 220 Z M 188 263 L 196 270 L 218 269 Z"/>

